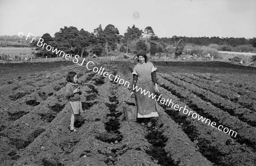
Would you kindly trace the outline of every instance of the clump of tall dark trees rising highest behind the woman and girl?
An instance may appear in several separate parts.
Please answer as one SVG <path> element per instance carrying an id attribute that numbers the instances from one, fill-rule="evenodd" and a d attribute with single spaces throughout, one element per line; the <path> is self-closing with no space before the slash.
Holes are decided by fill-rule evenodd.
<path id="1" fill-rule="evenodd" d="M 145 38 L 143 35 L 145 35 Z M 133 25 L 131 28 L 128 27 L 124 35 L 120 35 L 119 30 L 111 24 L 106 26 L 105 29 L 102 29 L 102 26 L 99 25 L 93 33 L 84 31 L 84 29 L 79 31 L 73 26 L 65 26 L 64 29 L 61 28 L 59 32 L 56 32 L 54 37 L 46 33 L 41 38 L 44 39 L 44 43 L 47 43 L 47 45 L 67 54 L 78 54 L 80 57 L 87 56 L 90 53 L 98 56 L 108 55 L 119 50 L 129 53 L 137 52 L 140 49 L 148 51 L 147 42 L 158 40 L 150 26 L 146 27 L 143 32 Z M 38 50 L 38 56 L 56 56 L 45 48 L 37 46 L 37 42 L 32 42 L 30 46 Z"/>

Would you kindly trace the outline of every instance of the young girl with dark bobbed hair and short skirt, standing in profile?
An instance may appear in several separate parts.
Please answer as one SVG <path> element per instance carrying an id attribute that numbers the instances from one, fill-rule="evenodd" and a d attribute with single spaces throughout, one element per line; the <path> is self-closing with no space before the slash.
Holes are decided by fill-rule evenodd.
<path id="1" fill-rule="evenodd" d="M 77 74 L 76 72 L 68 72 L 67 73 L 67 85 L 65 87 L 65 96 L 68 98 L 68 102 L 71 108 L 71 118 L 70 118 L 70 132 L 75 132 L 76 128 L 74 127 L 74 123 L 78 119 L 78 116 L 82 110 L 82 103 L 80 95 L 82 94 L 80 87 L 78 87 L 77 83 Z"/>

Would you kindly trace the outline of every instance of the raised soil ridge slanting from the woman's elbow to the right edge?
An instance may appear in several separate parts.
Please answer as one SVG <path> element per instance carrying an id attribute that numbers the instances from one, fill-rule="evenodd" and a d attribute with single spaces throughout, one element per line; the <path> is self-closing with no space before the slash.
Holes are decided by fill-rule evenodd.
<path id="1" fill-rule="evenodd" d="M 245 143 L 247 146 L 255 149 L 256 129 L 254 127 L 250 127 L 246 123 L 237 120 L 235 117 L 230 116 L 230 114 L 227 112 L 222 112 L 220 109 L 212 106 L 210 103 L 207 103 L 204 100 L 201 100 L 196 95 L 187 92 L 181 87 L 169 84 L 164 80 L 161 81 L 165 83 L 160 83 L 160 86 L 169 90 L 172 94 L 180 98 L 180 100 L 184 100 L 186 105 L 191 109 L 196 110 L 203 117 L 215 121 L 217 123 L 216 126 L 221 125 L 222 123 L 224 127 L 235 130 L 237 132 L 237 136 L 233 136 L 233 139 L 235 139 L 241 145 Z"/>

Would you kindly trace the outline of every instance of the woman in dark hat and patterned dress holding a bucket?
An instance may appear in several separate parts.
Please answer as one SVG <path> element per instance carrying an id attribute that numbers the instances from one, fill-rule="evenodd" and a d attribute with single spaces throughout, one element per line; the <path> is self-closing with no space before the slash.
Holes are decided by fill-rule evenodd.
<path id="1" fill-rule="evenodd" d="M 148 127 L 151 127 L 151 117 L 158 117 L 157 114 L 157 102 L 152 97 L 154 97 L 154 86 L 155 92 L 159 93 L 158 85 L 157 85 L 157 75 L 156 69 L 153 63 L 147 61 L 146 52 L 141 50 L 137 52 L 138 64 L 134 66 L 133 74 L 133 87 L 137 86 L 137 89 L 141 88 L 141 90 L 134 89 L 131 92 L 131 95 L 135 93 L 135 100 L 138 105 L 138 118 L 142 118 L 142 125 L 147 123 Z M 154 84 L 153 84 L 154 83 Z M 145 89 L 145 92 L 143 92 Z M 143 93 L 141 93 L 143 92 Z M 149 94 L 148 94 L 148 93 Z M 147 94 L 145 94 L 147 93 Z M 151 97 L 148 97 L 150 94 Z"/>

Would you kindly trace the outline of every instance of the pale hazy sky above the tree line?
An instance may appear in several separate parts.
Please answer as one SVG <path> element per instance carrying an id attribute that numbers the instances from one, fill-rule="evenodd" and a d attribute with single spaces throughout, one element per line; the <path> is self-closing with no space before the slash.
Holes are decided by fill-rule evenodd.
<path id="1" fill-rule="evenodd" d="M 54 37 L 64 26 L 93 32 L 112 24 L 158 37 L 256 37 L 256 0 L 0 0 L 0 35 Z"/>

